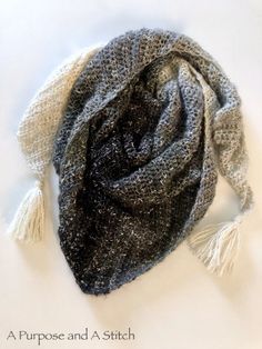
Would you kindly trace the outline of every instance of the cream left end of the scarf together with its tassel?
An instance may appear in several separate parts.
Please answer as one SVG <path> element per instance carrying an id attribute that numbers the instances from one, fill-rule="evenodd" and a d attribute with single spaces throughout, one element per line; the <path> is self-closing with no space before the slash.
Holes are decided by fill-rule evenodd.
<path id="1" fill-rule="evenodd" d="M 16 240 L 36 242 L 43 237 L 43 185 L 53 139 L 72 86 L 97 51 L 97 48 L 84 49 L 56 69 L 33 97 L 19 124 L 18 141 L 37 181 L 26 195 L 8 229 Z"/>

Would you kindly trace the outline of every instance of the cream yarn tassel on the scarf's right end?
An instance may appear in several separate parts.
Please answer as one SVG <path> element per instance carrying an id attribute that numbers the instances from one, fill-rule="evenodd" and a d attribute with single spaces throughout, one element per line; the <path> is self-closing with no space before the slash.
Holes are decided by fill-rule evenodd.
<path id="1" fill-rule="evenodd" d="M 240 249 L 240 223 L 242 216 L 231 222 L 209 226 L 192 233 L 188 245 L 208 270 L 219 276 L 231 272 Z"/>

